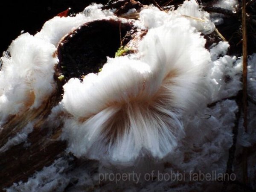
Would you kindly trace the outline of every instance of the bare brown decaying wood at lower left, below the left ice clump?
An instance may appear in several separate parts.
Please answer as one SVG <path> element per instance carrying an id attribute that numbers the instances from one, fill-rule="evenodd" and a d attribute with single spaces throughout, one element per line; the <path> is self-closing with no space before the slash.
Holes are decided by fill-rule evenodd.
<path id="1" fill-rule="evenodd" d="M 28 122 L 33 121 L 33 131 L 29 134 L 27 143 L 14 145 L 7 151 L 0 153 L 0 189 L 11 186 L 12 183 L 20 180 L 25 181 L 29 175 L 44 166 L 50 165 L 58 154 L 66 148 L 66 143 L 58 138 L 61 127 L 52 128 L 46 122 L 52 107 L 58 104 L 61 99 L 61 90 L 56 90 L 41 107 L 27 109 L 12 118 L 3 125 L 0 137 L 2 147 L 9 138 L 12 138 L 21 131 Z"/>

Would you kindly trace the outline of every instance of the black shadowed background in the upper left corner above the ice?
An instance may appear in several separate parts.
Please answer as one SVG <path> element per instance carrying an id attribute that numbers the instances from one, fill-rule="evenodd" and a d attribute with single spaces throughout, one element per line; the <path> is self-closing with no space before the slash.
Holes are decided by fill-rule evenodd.
<path id="1" fill-rule="evenodd" d="M 60 12 L 72 8 L 71 12 L 81 12 L 91 2 L 107 3 L 108 0 L 7 0 L 0 3 L 0 55 L 6 51 L 12 40 L 20 32 L 34 35 L 43 24 Z"/>

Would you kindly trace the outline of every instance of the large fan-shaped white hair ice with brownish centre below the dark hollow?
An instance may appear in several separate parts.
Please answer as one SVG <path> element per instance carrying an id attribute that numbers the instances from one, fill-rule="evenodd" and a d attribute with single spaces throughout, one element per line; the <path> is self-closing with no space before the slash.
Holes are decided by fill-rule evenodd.
<path id="1" fill-rule="evenodd" d="M 62 100 L 73 115 L 64 125 L 70 151 L 113 162 L 168 154 L 183 137 L 183 117 L 206 104 L 204 44 L 187 19 L 174 18 L 148 30 L 137 60 L 108 59 L 98 75 L 70 79 Z"/>

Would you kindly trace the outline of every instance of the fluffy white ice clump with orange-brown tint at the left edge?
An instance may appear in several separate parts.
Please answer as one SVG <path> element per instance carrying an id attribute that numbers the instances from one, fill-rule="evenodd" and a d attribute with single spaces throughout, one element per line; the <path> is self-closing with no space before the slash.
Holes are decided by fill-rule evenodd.
<path id="1" fill-rule="evenodd" d="M 0 116 L 37 108 L 54 88 L 55 47 L 28 33 L 20 35 L 5 54 L 0 70 Z"/>

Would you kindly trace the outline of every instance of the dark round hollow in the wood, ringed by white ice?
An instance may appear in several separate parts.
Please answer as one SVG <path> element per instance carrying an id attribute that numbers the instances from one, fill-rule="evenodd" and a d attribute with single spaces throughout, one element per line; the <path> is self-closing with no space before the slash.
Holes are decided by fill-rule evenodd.
<path id="1" fill-rule="evenodd" d="M 67 35 L 58 46 L 58 70 L 64 82 L 88 73 L 97 73 L 108 57 L 114 57 L 132 25 L 116 20 L 96 20 L 80 26 Z M 120 30 L 121 29 L 121 30 Z"/>

